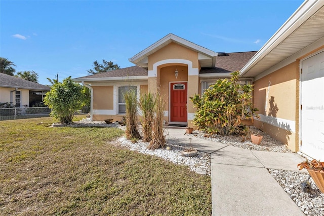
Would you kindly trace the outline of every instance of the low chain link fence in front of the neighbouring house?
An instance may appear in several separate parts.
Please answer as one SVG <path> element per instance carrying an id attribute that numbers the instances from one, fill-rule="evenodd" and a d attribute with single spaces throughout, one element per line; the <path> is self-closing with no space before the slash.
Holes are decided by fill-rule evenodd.
<path id="1" fill-rule="evenodd" d="M 49 117 L 49 107 L 13 107 L 0 109 L 0 121 Z"/>

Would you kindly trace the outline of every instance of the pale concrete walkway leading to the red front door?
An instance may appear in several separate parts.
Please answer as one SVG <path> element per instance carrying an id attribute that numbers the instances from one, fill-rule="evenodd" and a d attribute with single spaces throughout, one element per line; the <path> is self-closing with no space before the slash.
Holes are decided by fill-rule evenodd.
<path id="1" fill-rule="evenodd" d="M 183 128 L 166 128 L 167 139 L 188 146 Z M 304 158 L 293 153 L 246 150 L 192 137 L 191 145 L 211 154 L 213 215 L 304 215 L 267 169 L 297 171 Z"/>

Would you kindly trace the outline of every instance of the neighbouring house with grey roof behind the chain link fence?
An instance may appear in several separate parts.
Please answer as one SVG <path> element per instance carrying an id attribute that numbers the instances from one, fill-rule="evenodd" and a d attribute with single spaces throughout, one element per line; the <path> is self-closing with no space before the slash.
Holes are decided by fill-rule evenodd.
<path id="1" fill-rule="evenodd" d="M 17 107 L 43 103 L 50 87 L 0 73 L 0 103 L 12 102 Z"/>

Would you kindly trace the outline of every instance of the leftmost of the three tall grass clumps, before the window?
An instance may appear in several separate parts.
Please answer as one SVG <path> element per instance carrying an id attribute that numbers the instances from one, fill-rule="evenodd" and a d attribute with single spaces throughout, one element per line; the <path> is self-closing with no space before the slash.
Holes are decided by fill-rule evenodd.
<path id="1" fill-rule="evenodd" d="M 126 138 L 134 142 L 141 138 L 140 133 L 137 130 L 137 96 L 136 89 L 130 88 L 124 92 L 124 98 L 126 103 Z"/>

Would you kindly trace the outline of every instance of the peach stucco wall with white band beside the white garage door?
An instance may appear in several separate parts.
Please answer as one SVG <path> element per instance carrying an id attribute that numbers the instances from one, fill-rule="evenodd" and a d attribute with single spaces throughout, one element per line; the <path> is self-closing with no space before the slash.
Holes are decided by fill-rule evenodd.
<path id="1" fill-rule="evenodd" d="M 291 128 L 298 128 L 299 60 L 255 81 L 254 89 L 255 107 L 268 119 L 255 121 L 255 126 L 298 151 L 296 130 Z"/>

